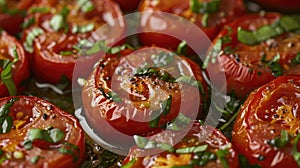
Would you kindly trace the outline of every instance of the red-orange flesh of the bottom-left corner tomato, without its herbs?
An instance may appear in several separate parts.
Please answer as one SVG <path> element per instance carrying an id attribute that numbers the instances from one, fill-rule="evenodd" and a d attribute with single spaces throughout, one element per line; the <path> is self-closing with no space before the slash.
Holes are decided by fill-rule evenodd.
<path id="1" fill-rule="evenodd" d="M 1 167 L 78 167 L 80 166 L 85 150 L 84 131 L 74 116 L 68 114 L 49 102 L 37 97 L 16 96 L 0 99 L 3 106 L 8 100 L 17 99 L 10 108 L 9 116 L 13 118 L 14 128 L 6 134 L 0 134 L 0 144 L 3 152 L 12 154 L 13 151 L 21 151 L 23 159 L 7 159 L 1 163 Z M 21 115 L 20 115 L 21 113 Z M 45 117 L 46 114 L 46 117 Z M 33 143 L 33 148 L 26 150 L 23 143 L 27 140 L 27 133 L 31 128 L 47 129 L 50 126 L 65 132 L 65 142 L 76 145 L 79 149 L 78 160 L 73 162 L 73 157 L 69 154 L 58 152 L 62 142 L 57 143 L 57 147 L 46 149 Z M 9 143 L 7 143 L 9 141 Z M 49 144 L 48 144 L 49 145 Z M 31 162 L 32 157 L 39 156 L 35 164 Z"/>

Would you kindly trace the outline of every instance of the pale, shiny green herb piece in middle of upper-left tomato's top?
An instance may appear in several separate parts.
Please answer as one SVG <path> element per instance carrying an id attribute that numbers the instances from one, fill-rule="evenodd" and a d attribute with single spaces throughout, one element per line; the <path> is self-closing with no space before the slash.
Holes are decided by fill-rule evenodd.
<path id="1" fill-rule="evenodd" d="M 52 16 L 50 20 L 50 26 L 53 30 L 59 31 L 62 28 L 65 29 L 65 31 L 68 30 L 68 23 L 66 21 L 68 14 L 70 13 L 70 10 L 67 7 L 64 7 L 62 11 L 59 14 L 56 14 Z"/>

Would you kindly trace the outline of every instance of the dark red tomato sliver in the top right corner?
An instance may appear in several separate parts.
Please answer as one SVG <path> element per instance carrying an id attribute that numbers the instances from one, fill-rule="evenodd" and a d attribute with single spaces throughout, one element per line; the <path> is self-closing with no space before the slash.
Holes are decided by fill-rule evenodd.
<path id="1" fill-rule="evenodd" d="M 260 4 L 262 7 L 269 10 L 276 10 L 285 13 L 299 13 L 300 2 L 298 0 L 289 0 L 288 3 L 285 0 L 253 0 Z"/>

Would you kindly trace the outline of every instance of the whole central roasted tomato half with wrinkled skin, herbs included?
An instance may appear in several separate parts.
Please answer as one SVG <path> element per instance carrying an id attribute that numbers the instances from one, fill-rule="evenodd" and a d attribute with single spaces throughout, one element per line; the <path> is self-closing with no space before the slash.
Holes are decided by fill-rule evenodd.
<path id="1" fill-rule="evenodd" d="M 112 141 L 159 131 L 179 112 L 201 117 L 208 97 L 200 67 L 158 47 L 106 54 L 82 91 L 91 128 Z"/>

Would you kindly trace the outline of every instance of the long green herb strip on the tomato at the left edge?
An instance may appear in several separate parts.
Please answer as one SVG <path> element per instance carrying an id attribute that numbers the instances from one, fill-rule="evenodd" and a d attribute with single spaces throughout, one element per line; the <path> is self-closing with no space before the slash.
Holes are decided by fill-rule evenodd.
<path id="1" fill-rule="evenodd" d="M 14 60 L 11 62 L 9 60 L 5 60 L 3 63 L 3 70 L 1 72 L 1 80 L 5 84 L 9 94 L 14 96 L 17 94 L 17 87 L 12 78 L 12 66 L 19 61 L 19 55 L 17 52 L 16 46 L 13 48 Z"/>

